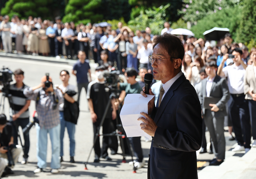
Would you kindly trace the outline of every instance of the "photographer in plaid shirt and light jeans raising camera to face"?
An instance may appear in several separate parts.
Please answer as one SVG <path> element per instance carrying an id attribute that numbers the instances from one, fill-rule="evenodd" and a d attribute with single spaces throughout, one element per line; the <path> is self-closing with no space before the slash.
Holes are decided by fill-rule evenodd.
<path id="1" fill-rule="evenodd" d="M 42 89 L 40 89 L 42 87 Z M 51 172 L 58 173 L 60 168 L 60 112 L 59 106 L 63 103 L 63 95 L 59 89 L 53 89 L 52 78 L 46 73 L 38 86 L 26 88 L 24 95 L 36 101 L 36 110 L 39 124 L 37 128 L 37 166 L 34 173 L 46 168 L 47 134 L 52 143 Z"/>

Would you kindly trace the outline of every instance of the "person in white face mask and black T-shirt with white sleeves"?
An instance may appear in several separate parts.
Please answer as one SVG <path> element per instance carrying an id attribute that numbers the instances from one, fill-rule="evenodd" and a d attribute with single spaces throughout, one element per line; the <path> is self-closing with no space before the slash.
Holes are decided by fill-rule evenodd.
<path id="1" fill-rule="evenodd" d="M 95 69 L 97 79 L 90 82 L 87 90 L 87 99 L 89 104 L 89 109 L 91 112 L 91 119 L 93 121 L 93 131 L 94 139 L 97 137 L 96 143 L 94 145 L 95 159 L 94 162 L 99 162 L 99 157 L 101 156 L 104 159 L 111 160 L 108 156 L 108 147 L 109 147 L 109 137 L 103 136 L 102 139 L 102 151 L 99 144 L 99 137 L 96 136 L 97 128 L 101 124 L 103 113 L 107 107 L 109 96 L 111 94 L 109 87 L 106 87 L 105 79 L 103 76 L 103 70 L 105 66 L 99 66 Z M 111 101 L 111 106 L 109 106 L 108 113 L 102 125 L 102 133 L 108 134 L 110 120 L 116 119 L 116 110 L 114 107 L 114 100 Z M 114 109 L 114 110 L 113 110 Z"/>

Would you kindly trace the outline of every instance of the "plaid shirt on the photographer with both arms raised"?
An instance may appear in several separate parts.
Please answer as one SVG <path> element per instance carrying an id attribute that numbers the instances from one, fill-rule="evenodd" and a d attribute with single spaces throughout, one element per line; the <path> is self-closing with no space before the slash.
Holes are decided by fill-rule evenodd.
<path id="1" fill-rule="evenodd" d="M 36 89 L 33 91 L 31 87 L 27 87 L 23 93 L 30 100 L 36 101 L 39 92 L 40 98 L 35 106 L 37 109 L 39 126 L 45 129 L 56 127 L 58 124 L 60 124 L 59 106 L 61 103 L 64 102 L 63 95 L 59 89 L 54 90 L 55 99 L 58 98 L 59 102 L 57 104 L 57 108 L 53 110 L 52 106 L 54 104 L 54 100 L 51 93 L 48 93 L 48 95 L 46 95 L 44 90 Z"/>

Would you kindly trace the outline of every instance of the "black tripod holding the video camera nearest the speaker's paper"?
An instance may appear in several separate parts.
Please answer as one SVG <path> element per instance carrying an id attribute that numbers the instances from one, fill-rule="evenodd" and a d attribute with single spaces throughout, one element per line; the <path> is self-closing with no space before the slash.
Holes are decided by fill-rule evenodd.
<path id="1" fill-rule="evenodd" d="M 110 87 L 110 91 L 111 91 L 111 94 L 110 94 L 110 96 L 109 96 L 108 104 L 107 104 L 107 106 L 106 106 L 106 108 L 105 108 L 105 111 L 104 111 L 104 113 L 103 113 L 103 117 L 102 117 L 101 123 L 99 124 L 99 127 L 97 128 L 97 132 L 96 132 L 96 134 L 95 134 L 95 139 L 94 139 L 93 147 L 92 147 L 91 150 L 90 150 L 90 153 L 89 153 L 89 156 L 88 156 L 88 158 L 87 158 L 87 161 L 84 162 L 84 165 L 85 165 L 84 170 L 88 170 L 87 167 L 86 167 L 86 165 L 88 164 L 89 158 L 90 158 L 90 156 L 91 156 L 91 152 L 93 151 L 93 148 L 94 148 L 95 143 L 96 143 L 96 141 L 97 141 L 97 138 L 98 138 L 99 136 L 119 136 L 121 149 L 122 149 L 122 151 L 123 151 L 123 153 L 122 153 L 122 155 L 123 155 L 122 163 L 126 163 L 126 159 L 125 159 L 126 154 L 125 154 L 124 140 L 123 140 L 126 136 L 123 134 L 123 131 L 124 131 L 124 130 L 123 130 L 122 124 L 119 124 L 118 117 L 116 117 L 116 124 L 117 124 L 118 132 L 114 131 L 114 132 L 109 133 L 109 134 L 101 134 L 101 135 L 99 134 L 99 130 L 100 130 L 101 126 L 103 125 L 103 122 L 105 121 L 105 118 L 106 118 L 106 115 L 107 115 L 107 113 L 108 113 L 108 110 L 109 110 L 109 106 L 110 106 L 110 104 L 111 104 L 111 101 L 112 101 L 113 99 L 116 99 L 116 98 L 117 98 L 117 90 L 116 90 L 116 89 L 113 89 L 113 87 Z M 115 109 L 113 109 L 113 110 L 115 110 Z M 117 116 L 119 116 L 119 114 L 120 114 L 120 111 L 119 111 L 119 109 L 118 109 Z M 131 150 L 131 144 L 129 143 L 129 140 L 126 140 L 126 141 L 127 141 L 129 153 L 131 154 L 131 156 L 132 156 L 132 161 L 133 161 L 133 154 L 132 154 L 132 150 Z M 133 162 L 133 173 L 136 173 L 136 169 L 137 169 L 137 168 L 134 166 L 134 162 Z"/>

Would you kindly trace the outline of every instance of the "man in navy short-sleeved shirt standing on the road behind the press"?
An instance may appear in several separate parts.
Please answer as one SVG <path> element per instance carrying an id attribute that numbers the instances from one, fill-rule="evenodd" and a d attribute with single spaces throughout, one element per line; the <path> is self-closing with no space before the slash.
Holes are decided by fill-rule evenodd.
<path id="1" fill-rule="evenodd" d="M 80 100 L 81 90 L 83 87 L 87 93 L 87 87 L 89 84 L 87 73 L 89 73 L 90 79 L 91 79 L 90 65 L 88 62 L 85 61 L 85 58 L 86 58 L 85 52 L 83 50 L 79 50 L 78 61 L 75 63 L 72 70 L 72 74 L 76 76 L 76 82 L 78 86 L 78 100 L 77 100 L 78 104 Z"/>

